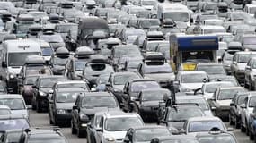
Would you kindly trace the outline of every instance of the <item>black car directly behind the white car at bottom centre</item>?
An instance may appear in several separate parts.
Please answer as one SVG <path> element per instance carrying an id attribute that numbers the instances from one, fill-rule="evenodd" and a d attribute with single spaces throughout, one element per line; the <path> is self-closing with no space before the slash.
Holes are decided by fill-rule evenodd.
<path id="1" fill-rule="evenodd" d="M 79 96 L 72 110 L 71 130 L 78 137 L 86 136 L 87 123 L 96 112 L 119 110 L 117 99 L 108 92 L 90 92 Z"/>

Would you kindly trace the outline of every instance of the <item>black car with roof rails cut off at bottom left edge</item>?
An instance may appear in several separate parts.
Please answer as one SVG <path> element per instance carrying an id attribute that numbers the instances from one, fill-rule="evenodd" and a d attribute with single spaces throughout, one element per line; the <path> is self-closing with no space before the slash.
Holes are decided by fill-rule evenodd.
<path id="1" fill-rule="evenodd" d="M 58 142 L 67 143 L 65 136 L 60 132 L 59 128 L 35 128 L 24 130 L 19 143 L 43 143 Z"/>

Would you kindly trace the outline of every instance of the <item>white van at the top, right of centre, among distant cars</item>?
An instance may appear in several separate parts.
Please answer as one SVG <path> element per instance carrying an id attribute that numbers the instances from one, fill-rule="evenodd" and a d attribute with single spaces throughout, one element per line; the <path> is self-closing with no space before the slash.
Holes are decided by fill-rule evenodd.
<path id="1" fill-rule="evenodd" d="M 175 22 L 185 22 L 190 25 L 190 13 L 186 5 L 183 4 L 158 4 L 157 18 L 160 21 L 172 19 Z"/>

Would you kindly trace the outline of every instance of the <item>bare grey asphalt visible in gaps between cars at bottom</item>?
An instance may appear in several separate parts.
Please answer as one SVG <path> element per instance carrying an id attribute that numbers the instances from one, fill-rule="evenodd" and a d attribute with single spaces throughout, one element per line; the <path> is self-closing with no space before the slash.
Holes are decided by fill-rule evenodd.
<path id="1" fill-rule="evenodd" d="M 30 110 L 30 121 L 32 127 L 50 126 L 47 113 L 39 114 Z M 227 127 L 229 126 L 229 123 L 226 122 L 225 124 Z M 69 143 L 86 143 L 85 138 L 78 138 L 76 135 L 72 135 L 69 127 L 61 128 L 61 132 L 65 135 Z M 239 143 L 253 143 L 253 141 L 250 141 L 249 137 L 246 136 L 245 133 L 240 132 L 240 130 L 234 130 L 234 135 L 238 139 Z"/>

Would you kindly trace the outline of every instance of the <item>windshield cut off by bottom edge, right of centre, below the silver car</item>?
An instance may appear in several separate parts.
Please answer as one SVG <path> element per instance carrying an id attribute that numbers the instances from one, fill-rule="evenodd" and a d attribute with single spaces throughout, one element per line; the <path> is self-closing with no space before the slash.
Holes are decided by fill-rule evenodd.
<path id="1" fill-rule="evenodd" d="M 199 143 L 211 143 L 211 142 L 236 143 L 234 137 L 231 135 L 198 137 L 198 141 L 199 141 Z"/>

